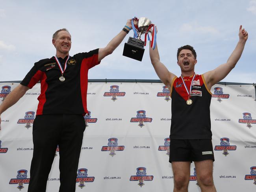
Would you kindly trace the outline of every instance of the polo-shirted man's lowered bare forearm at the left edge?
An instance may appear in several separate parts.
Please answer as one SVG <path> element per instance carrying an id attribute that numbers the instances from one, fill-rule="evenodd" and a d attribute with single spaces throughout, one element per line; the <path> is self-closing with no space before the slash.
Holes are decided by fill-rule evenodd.
<path id="1" fill-rule="evenodd" d="M 5 100 L 0 105 L 0 130 L 1 130 L 1 114 L 6 111 L 9 107 L 13 106 L 20 98 L 30 89 L 24 85 L 18 85 L 13 89 L 5 98 Z"/>

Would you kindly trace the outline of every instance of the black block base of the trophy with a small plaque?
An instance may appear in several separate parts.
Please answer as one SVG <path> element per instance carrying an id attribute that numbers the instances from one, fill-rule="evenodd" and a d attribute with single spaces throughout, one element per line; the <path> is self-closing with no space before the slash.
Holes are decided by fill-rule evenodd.
<path id="1" fill-rule="evenodd" d="M 142 61 L 144 51 L 144 48 L 140 48 L 126 42 L 124 43 L 124 51 L 122 52 L 122 55 L 130 57 L 132 59 L 136 59 L 138 61 Z"/>

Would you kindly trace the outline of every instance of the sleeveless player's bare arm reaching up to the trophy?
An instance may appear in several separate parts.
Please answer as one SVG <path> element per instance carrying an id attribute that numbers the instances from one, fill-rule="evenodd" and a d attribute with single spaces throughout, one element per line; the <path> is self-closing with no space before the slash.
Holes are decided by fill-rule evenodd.
<path id="1" fill-rule="evenodd" d="M 156 71 L 156 74 L 160 78 L 160 80 L 169 88 L 171 88 L 171 83 L 175 75 L 166 68 L 163 63 L 160 61 L 160 56 L 158 53 L 158 47 L 156 45 L 155 49 L 149 48 L 149 55 L 151 59 L 151 63 Z"/>

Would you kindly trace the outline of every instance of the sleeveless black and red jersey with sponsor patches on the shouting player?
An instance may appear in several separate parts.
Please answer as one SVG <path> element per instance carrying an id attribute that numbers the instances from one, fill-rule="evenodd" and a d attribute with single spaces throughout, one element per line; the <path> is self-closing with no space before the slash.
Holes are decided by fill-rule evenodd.
<path id="1" fill-rule="evenodd" d="M 203 75 L 193 77 L 175 77 L 171 88 L 171 139 L 211 139 L 210 103 L 211 92 L 206 87 Z M 184 86 L 190 85 L 191 105 L 187 105 L 188 93 Z"/>

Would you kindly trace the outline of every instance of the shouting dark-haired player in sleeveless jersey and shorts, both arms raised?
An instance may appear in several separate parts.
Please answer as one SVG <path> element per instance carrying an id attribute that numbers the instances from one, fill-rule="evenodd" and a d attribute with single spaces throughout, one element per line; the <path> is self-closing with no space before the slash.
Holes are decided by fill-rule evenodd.
<path id="1" fill-rule="evenodd" d="M 239 28 L 239 41 L 227 62 L 202 75 L 195 73 L 197 54 L 192 46 L 178 48 L 177 77 L 161 63 L 158 48 L 150 48 L 156 74 L 170 90 L 172 98 L 170 159 L 174 175 L 174 192 L 187 192 L 190 164 L 195 162 L 197 181 L 202 192 L 216 192 L 213 184 L 213 147 L 211 143 L 211 87 L 225 78 L 241 57 L 248 33 Z M 183 117 L 186 118 L 183 118 Z M 200 116 L 200 121 L 197 117 Z"/>

